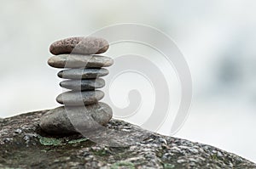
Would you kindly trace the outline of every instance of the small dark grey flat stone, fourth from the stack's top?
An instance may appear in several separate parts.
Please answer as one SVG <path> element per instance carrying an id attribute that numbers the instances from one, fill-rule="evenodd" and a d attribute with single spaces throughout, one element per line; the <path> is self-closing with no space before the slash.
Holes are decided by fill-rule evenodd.
<path id="1" fill-rule="evenodd" d="M 71 90 L 94 90 L 105 86 L 105 81 L 102 78 L 89 80 L 68 80 L 60 82 L 60 86 Z"/>

